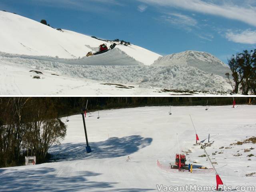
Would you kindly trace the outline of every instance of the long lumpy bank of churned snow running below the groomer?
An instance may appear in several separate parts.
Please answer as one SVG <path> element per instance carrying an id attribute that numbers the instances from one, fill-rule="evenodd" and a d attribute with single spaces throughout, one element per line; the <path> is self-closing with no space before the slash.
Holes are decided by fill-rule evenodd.
<path id="1" fill-rule="evenodd" d="M 230 85 L 225 78 L 208 74 L 192 66 L 88 66 L 4 56 L 0 56 L 0 63 L 6 66 L 50 70 L 62 76 L 78 79 L 132 84 L 140 88 L 230 92 Z M 5 70 L 3 73 L 8 71 Z M 3 81 L 8 84 L 8 79 Z M 26 84 L 30 84 L 30 81 Z"/>

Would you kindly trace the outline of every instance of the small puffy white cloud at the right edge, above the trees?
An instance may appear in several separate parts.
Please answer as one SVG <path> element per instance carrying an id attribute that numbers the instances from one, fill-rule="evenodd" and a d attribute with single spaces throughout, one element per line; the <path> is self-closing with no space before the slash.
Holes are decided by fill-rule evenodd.
<path id="1" fill-rule="evenodd" d="M 256 31 L 252 30 L 245 30 L 242 32 L 232 32 L 229 30 L 226 32 L 226 38 L 229 41 L 233 41 L 236 43 L 242 44 L 256 44 Z"/>

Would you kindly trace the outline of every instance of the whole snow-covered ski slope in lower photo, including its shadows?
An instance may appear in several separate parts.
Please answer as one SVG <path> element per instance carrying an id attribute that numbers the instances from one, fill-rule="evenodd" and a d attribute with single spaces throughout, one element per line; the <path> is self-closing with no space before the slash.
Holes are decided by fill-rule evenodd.
<path id="1" fill-rule="evenodd" d="M 75 191 L 75 192 L 156 192 L 160 186 L 216 186 L 215 173 L 196 166 L 210 167 L 200 146 L 195 144 L 194 125 L 206 151 L 216 162 L 218 174 L 226 186 L 254 186 L 256 144 L 230 145 L 256 134 L 256 106 L 177 106 L 141 107 L 93 112 L 86 116 L 86 128 L 92 153 L 85 150 L 81 115 L 66 118 L 67 136 L 50 153 L 56 162 L 0 169 L 0 191 Z M 150 118 L 149 118 L 150 117 Z M 168 166 L 180 148 L 193 163 L 193 172 L 168 172 Z M 230 134 L 232 133 L 232 134 Z M 251 148 L 251 149 L 250 149 Z M 244 149 L 250 152 L 244 152 Z M 183 153 L 182 152 L 182 153 Z M 240 156 L 236 156 L 241 154 Z M 248 155 L 254 156 L 248 157 Z M 130 156 L 130 162 L 126 162 Z M 251 160 L 248 160 L 248 159 Z M 169 169 L 170 170 L 170 169 Z M 160 190 L 166 191 L 166 190 Z M 181 191 L 181 190 L 179 190 Z M 214 190 L 212 190 L 214 191 Z M 231 190 L 228 190 L 231 191 Z M 238 191 L 238 190 L 236 190 Z M 248 190 L 247 190 L 248 191 Z"/>

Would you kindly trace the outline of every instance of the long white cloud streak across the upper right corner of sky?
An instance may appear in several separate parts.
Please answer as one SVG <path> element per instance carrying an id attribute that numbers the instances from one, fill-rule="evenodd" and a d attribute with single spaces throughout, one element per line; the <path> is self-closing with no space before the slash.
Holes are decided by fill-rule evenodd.
<path id="1" fill-rule="evenodd" d="M 170 6 L 182 8 L 194 12 L 222 16 L 233 20 L 256 26 L 256 7 L 255 0 L 230 1 L 219 0 L 219 4 L 213 3 L 212 0 L 138 0 L 140 2 L 154 4 L 159 6 Z"/>

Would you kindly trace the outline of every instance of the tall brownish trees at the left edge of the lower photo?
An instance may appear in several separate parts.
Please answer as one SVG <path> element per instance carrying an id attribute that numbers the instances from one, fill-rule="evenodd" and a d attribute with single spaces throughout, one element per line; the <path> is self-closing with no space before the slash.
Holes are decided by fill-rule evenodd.
<path id="1" fill-rule="evenodd" d="M 0 98 L 0 167 L 45 162 L 50 146 L 66 135 L 51 98 Z"/>

